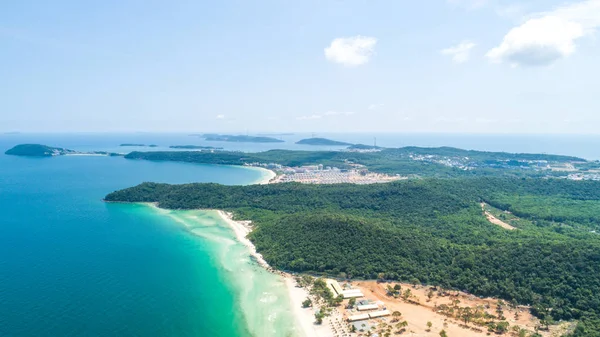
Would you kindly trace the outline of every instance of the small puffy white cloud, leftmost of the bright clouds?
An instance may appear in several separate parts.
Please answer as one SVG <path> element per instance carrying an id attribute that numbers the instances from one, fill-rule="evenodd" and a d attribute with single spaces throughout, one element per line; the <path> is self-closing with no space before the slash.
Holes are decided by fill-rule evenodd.
<path id="1" fill-rule="evenodd" d="M 376 43 L 376 38 L 360 35 L 337 38 L 325 48 L 325 57 L 331 62 L 348 67 L 359 66 L 369 62 Z"/>

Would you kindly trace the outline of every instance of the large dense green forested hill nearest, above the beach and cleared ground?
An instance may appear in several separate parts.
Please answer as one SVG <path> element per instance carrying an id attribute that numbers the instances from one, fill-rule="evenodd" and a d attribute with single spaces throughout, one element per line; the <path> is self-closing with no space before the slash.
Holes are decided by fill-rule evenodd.
<path id="1" fill-rule="evenodd" d="M 579 319 L 576 336 L 600 333 L 600 182 L 144 183 L 106 200 L 233 211 L 255 223 L 251 240 L 279 269 L 416 280 L 530 304 L 546 319 Z M 481 201 L 518 210 L 518 229 L 489 223 Z"/>

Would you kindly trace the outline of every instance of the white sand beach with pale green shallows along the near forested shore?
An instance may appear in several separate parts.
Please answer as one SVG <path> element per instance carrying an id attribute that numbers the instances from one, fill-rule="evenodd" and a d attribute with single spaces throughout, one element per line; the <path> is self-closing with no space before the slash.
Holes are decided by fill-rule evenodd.
<path id="1" fill-rule="evenodd" d="M 209 246 L 214 267 L 235 298 L 234 311 L 243 316 L 247 326 L 244 336 L 329 336 L 306 331 L 314 321 L 314 313 L 299 316 L 306 291 L 295 288 L 291 275 L 275 271 L 256 252 L 246 237 L 252 228 L 250 222 L 234 221 L 232 214 L 220 210 L 168 210 L 152 203 L 144 205 L 171 218 Z"/>

